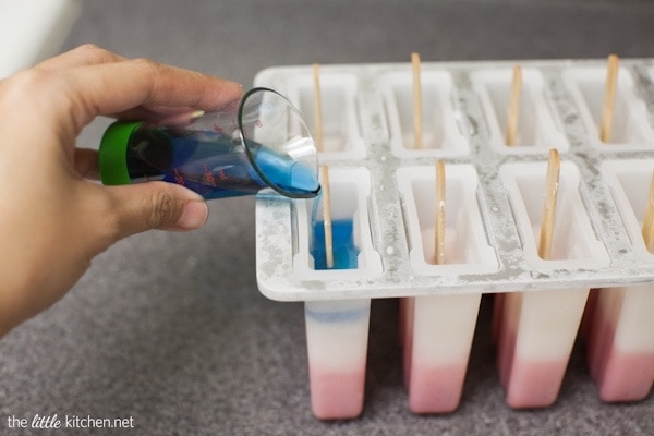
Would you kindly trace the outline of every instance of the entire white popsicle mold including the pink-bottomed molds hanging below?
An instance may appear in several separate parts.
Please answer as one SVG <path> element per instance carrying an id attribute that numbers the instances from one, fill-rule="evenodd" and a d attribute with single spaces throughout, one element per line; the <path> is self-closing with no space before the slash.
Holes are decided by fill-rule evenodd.
<path id="1" fill-rule="evenodd" d="M 363 411 L 376 298 L 399 298 L 414 413 L 459 405 L 483 293 L 495 294 L 492 330 L 509 407 L 556 401 L 578 332 L 602 400 L 649 395 L 654 255 L 641 227 L 654 170 L 654 62 L 621 61 L 607 143 L 598 129 L 606 61 L 519 63 L 511 147 L 504 138 L 514 62 L 423 63 L 420 149 L 410 63 L 320 66 L 319 161 L 329 166 L 332 220 L 352 223 L 356 267 L 315 267 L 320 203 L 259 195 L 256 204 L 258 287 L 274 300 L 305 303 L 317 417 Z M 255 85 L 287 95 L 315 129 L 312 66 L 271 68 Z M 537 241 L 552 148 L 561 165 L 552 254 L 543 259 Z M 434 258 L 438 159 L 446 173 L 444 264 Z"/>

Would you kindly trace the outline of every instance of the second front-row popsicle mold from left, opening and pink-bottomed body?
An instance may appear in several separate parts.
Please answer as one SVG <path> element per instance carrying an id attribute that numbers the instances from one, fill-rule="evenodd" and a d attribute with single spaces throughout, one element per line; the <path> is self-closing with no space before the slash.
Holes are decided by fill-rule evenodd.
<path id="1" fill-rule="evenodd" d="M 404 167 L 397 172 L 412 270 L 425 276 L 496 270 L 476 201 L 474 168 L 448 165 L 445 173 L 445 264 L 436 265 L 436 168 Z M 413 412 L 447 413 L 459 405 L 480 301 L 481 293 L 403 299 L 400 335 Z"/>

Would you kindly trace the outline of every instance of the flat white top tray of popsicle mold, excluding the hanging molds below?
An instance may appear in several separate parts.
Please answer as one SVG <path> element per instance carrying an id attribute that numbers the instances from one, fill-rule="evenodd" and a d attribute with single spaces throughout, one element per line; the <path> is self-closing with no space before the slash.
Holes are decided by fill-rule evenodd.
<path id="1" fill-rule="evenodd" d="M 610 142 L 600 141 L 605 60 L 519 61 L 517 145 L 505 145 L 511 62 L 423 62 L 423 147 L 415 149 L 409 62 L 320 66 L 331 205 L 352 219 L 358 268 L 316 270 L 313 201 L 259 195 L 262 293 L 355 300 L 640 286 L 654 255 L 640 226 L 654 169 L 654 62 L 620 60 Z M 311 65 L 255 78 L 314 129 Z M 547 153 L 561 159 L 553 257 L 537 255 Z M 435 170 L 446 168 L 445 265 L 435 265 Z"/>

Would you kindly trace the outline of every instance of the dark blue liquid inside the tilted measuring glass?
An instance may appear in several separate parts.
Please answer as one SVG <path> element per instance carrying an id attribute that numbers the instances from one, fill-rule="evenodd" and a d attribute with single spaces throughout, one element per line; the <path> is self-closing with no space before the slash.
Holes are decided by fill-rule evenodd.
<path id="1" fill-rule="evenodd" d="M 140 128 L 130 137 L 126 167 L 133 183 L 178 183 L 206 199 L 253 195 L 264 187 L 296 197 L 318 193 L 317 174 L 308 166 L 252 142 L 250 153 L 259 172 L 240 141 L 222 133 Z"/>

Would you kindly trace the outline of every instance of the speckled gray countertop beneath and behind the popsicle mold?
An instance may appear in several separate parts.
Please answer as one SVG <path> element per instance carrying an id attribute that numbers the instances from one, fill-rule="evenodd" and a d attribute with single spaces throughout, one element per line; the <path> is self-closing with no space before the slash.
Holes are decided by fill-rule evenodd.
<path id="1" fill-rule="evenodd" d="M 408 62 L 412 51 L 423 61 L 650 58 L 653 23 L 647 0 L 86 1 L 64 49 L 94 43 L 249 86 L 266 66 Z M 106 124 L 80 143 L 97 144 Z M 254 198 L 214 201 L 199 231 L 147 232 L 97 257 L 62 301 L 0 340 L 0 434 L 654 434 L 652 396 L 603 404 L 581 344 L 553 407 L 508 408 L 489 298 L 457 412 L 410 413 L 397 302 L 375 300 L 363 415 L 314 419 L 303 307 L 258 293 L 254 226 Z M 36 414 L 132 419 L 135 429 L 8 427 Z"/>

